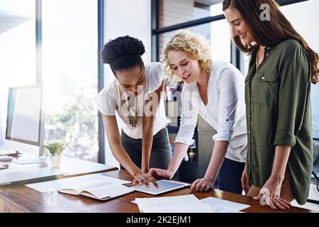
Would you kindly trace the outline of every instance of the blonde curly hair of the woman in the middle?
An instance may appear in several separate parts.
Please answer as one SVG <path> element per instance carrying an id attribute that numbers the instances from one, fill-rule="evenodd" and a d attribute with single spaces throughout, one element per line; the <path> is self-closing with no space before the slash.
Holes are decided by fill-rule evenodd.
<path id="1" fill-rule="evenodd" d="M 211 46 L 208 40 L 201 35 L 192 33 L 191 31 L 179 31 L 176 35 L 167 42 L 164 48 L 164 65 L 167 84 L 176 84 L 181 79 L 174 74 L 174 70 L 169 64 L 168 53 L 170 50 L 181 50 L 186 52 L 190 57 L 198 60 L 199 66 L 205 72 L 211 72 L 211 65 L 213 64 L 211 55 Z"/>

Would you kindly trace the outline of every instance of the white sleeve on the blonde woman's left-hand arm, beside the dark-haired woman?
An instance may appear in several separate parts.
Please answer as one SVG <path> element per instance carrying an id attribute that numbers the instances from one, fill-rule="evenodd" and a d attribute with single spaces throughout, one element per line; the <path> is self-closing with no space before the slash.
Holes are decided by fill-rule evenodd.
<path id="1" fill-rule="evenodd" d="M 181 101 L 181 122 L 175 143 L 192 145 L 198 116 L 198 92 L 189 92 L 189 90 L 183 89 Z"/>

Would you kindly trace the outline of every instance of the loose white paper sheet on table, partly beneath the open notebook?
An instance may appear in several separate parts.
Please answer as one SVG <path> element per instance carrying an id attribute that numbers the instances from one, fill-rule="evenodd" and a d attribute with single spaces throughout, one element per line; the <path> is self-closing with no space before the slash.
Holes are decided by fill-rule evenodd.
<path id="1" fill-rule="evenodd" d="M 65 179 L 55 179 L 48 182 L 40 182 L 35 184 L 26 184 L 26 187 L 35 189 L 38 192 L 53 192 L 67 187 L 72 187 L 75 184 L 82 184 L 84 182 L 96 181 L 96 180 L 106 180 L 111 184 L 127 184 L 130 183 L 123 179 L 117 179 L 113 177 L 107 177 L 101 174 L 94 175 L 84 175 L 79 177 L 68 177 Z"/>

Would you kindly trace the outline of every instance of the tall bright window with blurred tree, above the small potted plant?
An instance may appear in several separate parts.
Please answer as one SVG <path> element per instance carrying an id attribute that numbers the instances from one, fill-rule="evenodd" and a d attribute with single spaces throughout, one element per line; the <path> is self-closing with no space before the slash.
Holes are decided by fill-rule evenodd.
<path id="1" fill-rule="evenodd" d="M 65 140 L 67 156 L 94 162 L 99 151 L 97 9 L 97 1 L 56 0 L 43 1 L 42 12 L 45 143 Z"/>

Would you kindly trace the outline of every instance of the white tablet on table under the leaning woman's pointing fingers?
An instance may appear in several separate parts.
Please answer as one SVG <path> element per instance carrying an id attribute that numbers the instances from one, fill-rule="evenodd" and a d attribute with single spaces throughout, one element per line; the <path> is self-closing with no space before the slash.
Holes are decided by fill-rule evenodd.
<path id="1" fill-rule="evenodd" d="M 183 187 L 187 187 L 190 184 L 188 183 L 180 183 L 180 182 L 173 182 L 168 179 L 160 179 L 157 181 L 158 188 L 154 186 L 153 183 L 150 183 L 150 187 L 146 187 L 145 185 L 140 185 L 135 187 L 135 190 L 138 192 L 144 192 L 147 194 L 162 194 L 164 192 L 170 192 L 175 189 L 180 189 Z"/>

